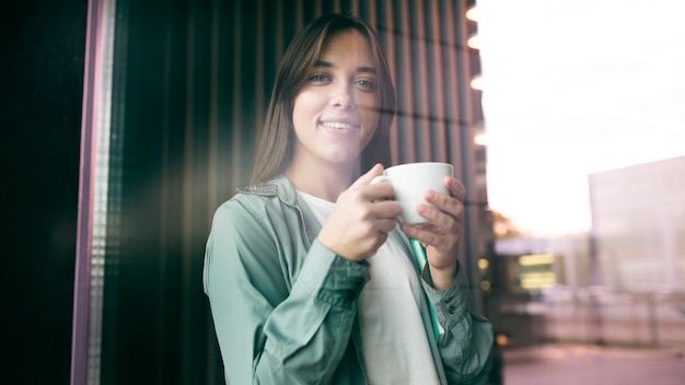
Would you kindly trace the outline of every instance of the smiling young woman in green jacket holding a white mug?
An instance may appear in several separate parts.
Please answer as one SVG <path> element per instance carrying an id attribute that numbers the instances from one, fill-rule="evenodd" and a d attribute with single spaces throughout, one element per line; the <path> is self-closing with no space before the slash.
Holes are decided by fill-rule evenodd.
<path id="1" fill-rule="evenodd" d="M 214 214 L 205 292 L 230 384 L 473 384 L 490 324 L 457 261 L 464 186 L 397 225 L 394 88 L 375 33 L 323 16 L 289 46 L 253 182 Z M 422 272 L 409 237 L 426 245 Z M 434 316 L 434 318 L 433 318 Z M 433 322 L 437 319 L 437 323 Z"/>

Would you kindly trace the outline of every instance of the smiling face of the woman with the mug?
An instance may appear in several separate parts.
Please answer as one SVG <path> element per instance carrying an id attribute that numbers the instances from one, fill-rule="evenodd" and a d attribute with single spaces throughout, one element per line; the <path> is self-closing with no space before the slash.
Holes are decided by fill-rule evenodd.
<path id="1" fill-rule="evenodd" d="M 293 161 L 310 165 L 357 161 L 379 122 L 376 88 L 367 38 L 355 30 L 329 36 L 294 100 Z"/>

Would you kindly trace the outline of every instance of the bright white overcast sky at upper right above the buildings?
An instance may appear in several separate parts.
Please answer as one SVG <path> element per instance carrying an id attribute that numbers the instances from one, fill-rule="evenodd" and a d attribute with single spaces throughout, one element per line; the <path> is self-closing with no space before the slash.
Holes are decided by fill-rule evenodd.
<path id="1" fill-rule="evenodd" d="M 530 235 L 590 230 L 589 175 L 685 155 L 671 0 L 478 0 L 488 200 Z"/>

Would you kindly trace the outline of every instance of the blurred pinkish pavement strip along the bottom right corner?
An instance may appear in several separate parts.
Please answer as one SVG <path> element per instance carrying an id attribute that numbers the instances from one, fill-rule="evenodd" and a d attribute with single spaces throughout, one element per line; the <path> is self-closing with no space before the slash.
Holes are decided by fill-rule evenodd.
<path id="1" fill-rule="evenodd" d="M 504 352 L 506 385 L 683 385 L 683 349 L 545 345 Z"/>

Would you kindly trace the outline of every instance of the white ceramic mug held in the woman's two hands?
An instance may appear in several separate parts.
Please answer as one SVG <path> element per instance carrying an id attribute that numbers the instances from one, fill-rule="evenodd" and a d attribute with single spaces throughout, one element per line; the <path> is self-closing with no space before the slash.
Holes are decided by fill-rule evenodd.
<path id="1" fill-rule="evenodd" d="M 394 200 L 402 206 L 403 221 L 409 224 L 425 224 L 428 220 L 416 212 L 420 203 L 432 206 L 423 199 L 427 190 L 450 194 L 444 187 L 444 177 L 452 176 L 454 167 L 449 163 L 421 162 L 406 163 L 385 168 L 371 183 L 387 182 L 395 188 Z"/>

